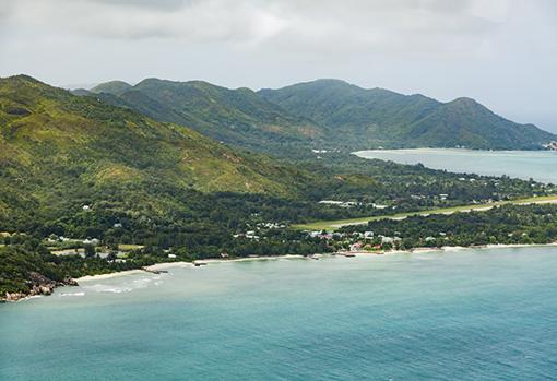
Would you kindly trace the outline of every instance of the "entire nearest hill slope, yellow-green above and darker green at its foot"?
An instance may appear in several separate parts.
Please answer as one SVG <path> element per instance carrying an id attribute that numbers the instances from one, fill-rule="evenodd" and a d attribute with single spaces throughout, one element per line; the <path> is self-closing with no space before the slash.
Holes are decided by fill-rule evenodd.
<path id="1" fill-rule="evenodd" d="M 0 80 L 0 231 L 79 217 L 95 203 L 154 217 L 187 212 L 199 192 L 296 199 L 315 180 L 28 76 Z"/>

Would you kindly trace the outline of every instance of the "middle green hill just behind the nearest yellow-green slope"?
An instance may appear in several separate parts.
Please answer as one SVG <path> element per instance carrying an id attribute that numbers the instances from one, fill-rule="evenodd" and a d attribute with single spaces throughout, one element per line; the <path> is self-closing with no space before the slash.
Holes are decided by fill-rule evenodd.
<path id="1" fill-rule="evenodd" d="M 258 152 L 294 152 L 293 147 L 307 146 L 323 134 L 311 120 L 293 116 L 249 88 L 147 79 L 126 91 L 109 82 L 95 87 L 94 93 L 104 102 Z"/>

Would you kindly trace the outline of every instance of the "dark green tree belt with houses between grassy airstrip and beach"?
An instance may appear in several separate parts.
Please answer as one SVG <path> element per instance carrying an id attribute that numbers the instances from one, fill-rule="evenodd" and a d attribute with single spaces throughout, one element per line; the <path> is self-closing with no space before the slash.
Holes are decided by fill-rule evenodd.
<path id="1" fill-rule="evenodd" d="M 501 205 L 486 212 L 380 219 L 339 230 L 335 246 L 357 241 L 370 248 L 408 250 L 422 247 L 532 245 L 557 241 L 557 205 Z M 372 231 L 363 239 L 364 231 Z M 386 239 L 384 237 L 389 237 Z M 346 241 L 346 242 L 344 242 Z M 343 243 L 344 242 L 344 243 Z M 331 242 L 330 242 L 331 243 Z"/>

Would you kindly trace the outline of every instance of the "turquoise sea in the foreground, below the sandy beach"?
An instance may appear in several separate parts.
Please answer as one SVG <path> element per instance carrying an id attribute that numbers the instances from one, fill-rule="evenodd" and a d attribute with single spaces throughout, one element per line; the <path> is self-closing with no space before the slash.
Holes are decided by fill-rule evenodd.
<path id="1" fill-rule="evenodd" d="M 549 380 L 557 248 L 269 260 L 0 306 L 0 380 Z"/>

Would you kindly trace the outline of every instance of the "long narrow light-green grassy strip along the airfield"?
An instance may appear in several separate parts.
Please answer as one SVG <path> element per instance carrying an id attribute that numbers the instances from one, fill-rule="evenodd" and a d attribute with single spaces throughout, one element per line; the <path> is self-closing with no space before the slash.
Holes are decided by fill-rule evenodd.
<path id="1" fill-rule="evenodd" d="M 557 203 L 557 194 L 538 197 L 538 198 L 498 201 L 498 202 L 486 203 L 486 204 L 440 207 L 440 209 L 432 209 L 432 210 L 427 210 L 427 211 L 406 212 L 406 213 L 398 213 L 398 214 L 383 215 L 383 216 L 358 217 L 358 218 L 335 219 L 335 221 L 317 221 L 315 223 L 309 223 L 309 224 L 293 225 L 293 227 L 295 229 L 300 229 L 300 230 L 334 231 L 337 228 L 346 226 L 346 225 L 362 225 L 362 224 L 367 224 L 370 221 L 378 221 L 378 219 L 384 219 L 384 218 L 392 218 L 392 219 L 400 218 L 400 219 L 402 219 L 402 218 L 406 218 L 406 217 L 414 216 L 414 215 L 451 214 L 451 213 L 455 213 L 455 212 L 487 211 L 487 210 L 490 210 L 491 207 L 505 205 L 505 204 L 544 204 L 544 203 Z"/>

